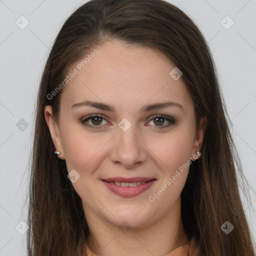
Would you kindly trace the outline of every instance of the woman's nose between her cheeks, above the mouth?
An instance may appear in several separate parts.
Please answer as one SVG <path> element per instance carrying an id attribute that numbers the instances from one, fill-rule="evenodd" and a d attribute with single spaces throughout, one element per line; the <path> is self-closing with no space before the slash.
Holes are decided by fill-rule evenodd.
<path id="1" fill-rule="evenodd" d="M 110 151 L 110 159 L 113 163 L 125 168 L 134 168 L 143 163 L 147 157 L 147 147 L 143 138 L 136 132 L 135 125 L 123 131 L 117 127 L 117 134 Z"/>

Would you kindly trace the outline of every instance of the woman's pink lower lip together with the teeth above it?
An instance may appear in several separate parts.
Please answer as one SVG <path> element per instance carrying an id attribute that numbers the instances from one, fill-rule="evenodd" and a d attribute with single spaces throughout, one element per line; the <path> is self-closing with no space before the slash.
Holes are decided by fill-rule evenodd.
<path id="1" fill-rule="evenodd" d="M 110 184 L 105 180 L 102 181 L 104 182 L 106 187 L 113 193 L 123 197 L 131 197 L 147 190 L 154 183 L 155 179 L 152 179 L 150 181 L 145 182 L 144 184 L 140 184 L 137 186 L 117 186 L 115 184 Z"/>

